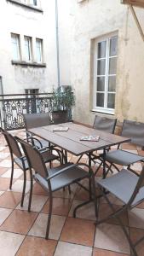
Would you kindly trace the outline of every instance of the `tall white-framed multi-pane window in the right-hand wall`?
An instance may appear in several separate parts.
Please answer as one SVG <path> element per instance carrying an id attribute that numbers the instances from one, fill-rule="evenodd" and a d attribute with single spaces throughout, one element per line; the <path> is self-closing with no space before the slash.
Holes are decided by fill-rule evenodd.
<path id="1" fill-rule="evenodd" d="M 95 110 L 114 113 L 118 36 L 101 38 L 95 43 Z"/>

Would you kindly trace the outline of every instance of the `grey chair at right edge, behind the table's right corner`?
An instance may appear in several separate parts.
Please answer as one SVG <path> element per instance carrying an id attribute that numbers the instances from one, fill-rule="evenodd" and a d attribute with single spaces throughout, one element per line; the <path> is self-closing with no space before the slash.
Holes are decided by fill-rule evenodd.
<path id="1" fill-rule="evenodd" d="M 144 124 L 124 119 L 121 136 L 130 137 L 130 143 L 134 143 L 135 145 L 143 147 Z M 119 171 L 116 165 L 128 166 L 128 169 L 131 172 L 135 172 L 134 170 L 131 169 L 130 166 L 135 162 L 143 161 L 144 156 L 124 151 L 122 149 L 119 149 L 118 146 L 117 150 L 107 152 L 105 160 L 111 164 L 107 172 L 112 168 L 112 166 L 114 166 Z"/>

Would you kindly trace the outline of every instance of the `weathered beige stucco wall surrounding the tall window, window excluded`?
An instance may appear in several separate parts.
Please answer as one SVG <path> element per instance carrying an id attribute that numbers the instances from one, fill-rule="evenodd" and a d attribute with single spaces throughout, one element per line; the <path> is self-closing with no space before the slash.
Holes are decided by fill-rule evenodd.
<path id="1" fill-rule="evenodd" d="M 144 122 L 144 44 L 130 9 L 120 0 L 85 0 L 74 9 L 72 84 L 75 87 L 74 119 L 92 125 L 92 39 L 118 31 L 118 68 L 115 116 L 122 121 Z M 135 9 L 144 30 L 144 9 Z M 100 113 L 98 113 L 100 114 Z M 109 115 L 108 115 L 109 116 Z"/>

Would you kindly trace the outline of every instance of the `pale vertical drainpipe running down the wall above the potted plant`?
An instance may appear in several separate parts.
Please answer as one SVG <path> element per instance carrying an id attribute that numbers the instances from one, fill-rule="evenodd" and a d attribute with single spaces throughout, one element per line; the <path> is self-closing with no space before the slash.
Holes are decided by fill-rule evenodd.
<path id="1" fill-rule="evenodd" d="M 60 58 L 59 58 L 59 20 L 58 20 L 58 3 L 55 0 L 55 25 L 56 25 L 56 56 L 57 56 L 57 81 L 60 86 Z"/>

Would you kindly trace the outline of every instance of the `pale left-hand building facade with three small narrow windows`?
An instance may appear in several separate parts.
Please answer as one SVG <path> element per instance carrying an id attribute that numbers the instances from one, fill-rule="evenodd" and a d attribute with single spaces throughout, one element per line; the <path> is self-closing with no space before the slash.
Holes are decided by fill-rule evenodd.
<path id="1" fill-rule="evenodd" d="M 70 84 L 67 45 L 69 49 L 72 41 L 69 38 L 71 1 L 62 2 L 65 9 L 61 9 L 60 0 L 1 0 L 0 76 L 4 94 L 51 92 L 58 84 L 57 53 L 60 84 Z"/>

